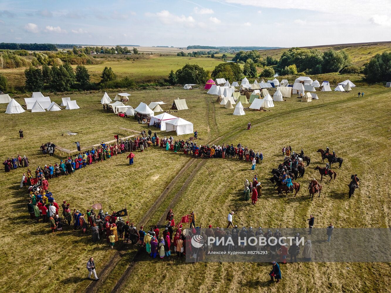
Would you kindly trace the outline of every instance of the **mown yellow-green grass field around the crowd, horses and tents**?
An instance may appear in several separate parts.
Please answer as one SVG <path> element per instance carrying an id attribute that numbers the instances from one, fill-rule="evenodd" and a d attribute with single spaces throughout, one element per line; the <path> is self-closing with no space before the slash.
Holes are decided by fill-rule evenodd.
<path id="1" fill-rule="evenodd" d="M 167 75 L 170 69 L 180 68 L 186 62 L 205 62 L 204 67 L 210 66 L 208 70 L 215 66 L 212 62 L 219 63 L 213 59 L 173 56 L 134 64 L 119 61 L 110 66 L 118 74 L 145 77 L 156 75 L 157 69 Z M 89 69 L 99 72 L 106 65 L 90 66 Z M 320 75 L 318 80 L 340 82 L 345 77 Z M 356 79 L 361 77 L 351 77 L 353 82 Z M 262 227 L 277 227 L 280 223 L 282 227 L 307 227 L 305 219 L 310 213 L 315 215 L 317 227 L 326 227 L 330 222 L 335 227 L 390 227 L 391 200 L 387 190 L 390 188 L 388 171 L 391 162 L 390 133 L 387 130 L 391 90 L 357 85 L 350 93 L 317 93 L 319 100 L 310 103 L 301 103 L 292 96 L 285 102 L 275 102 L 271 111 L 246 110 L 245 116 L 233 116 L 233 110 L 215 102 L 216 96 L 207 95 L 200 89 L 161 88 L 129 92 L 132 95 L 129 104 L 133 107 L 139 102 L 148 104 L 163 100 L 168 103 L 163 105 L 167 111 L 174 98 L 186 98 L 189 110 L 172 114 L 194 123 L 194 129 L 199 132 L 199 143 L 240 142 L 262 151 L 264 163 L 256 167 L 263 186 L 262 198 L 255 206 L 243 201 L 241 193 L 244 180 L 254 175 L 250 164 L 230 159 L 192 159 L 161 148 L 149 148 L 143 153 L 137 151 L 133 166 L 127 164 L 126 155 L 119 155 L 73 175 L 52 179 L 49 190 L 57 202 L 67 200 L 72 208 L 83 213 L 93 202 L 102 202 L 104 210 L 109 212 L 126 204 L 131 222 L 145 220 L 142 222 L 145 225 L 165 223 L 161 218 L 164 216 L 165 220 L 166 209 L 172 208 L 176 219 L 194 210 L 197 224 L 203 227 L 209 223 L 214 226 L 226 224 L 226 214 L 231 210 L 235 211 L 235 223 L 251 222 L 253 226 Z M 358 91 L 365 92 L 364 98 L 357 98 Z M 119 127 L 147 130 L 136 120 L 104 112 L 99 103 L 102 95 L 71 95 L 81 109 L 50 113 L 28 111 L 10 115 L 4 113 L 6 104 L 0 104 L 2 158 L 27 155 L 30 170 L 34 170 L 36 166 L 53 164 L 65 158 L 58 152 L 54 157 L 42 155 L 41 143 L 53 141 L 58 146 L 74 149 L 75 141 L 80 141 L 83 147 L 111 140 L 118 133 L 127 135 Z M 109 95 L 113 98 L 115 92 Z M 57 104 L 60 104 L 61 96 L 60 93 L 50 95 Z M 21 99 L 17 100 L 23 104 Z M 248 121 L 253 125 L 251 131 L 246 130 Z M 24 130 L 23 140 L 18 137 L 20 128 Z M 77 135 L 68 136 L 68 131 L 77 132 Z M 158 132 L 160 137 L 165 134 Z M 304 178 L 298 180 L 303 188 L 296 198 L 278 196 L 268 180 L 271 168 L 283 159 L 280 151 L 283 145 L 291 145 L 294 150 L 303 148 L 311 157 Z M 316 150 L 326 146 L 336 150 L 337 155 L 344 158 L 344 163 L 337 170 L 333 165 L 337 179 L 330 183 L 323 181 L 321 198 L 314 197 L 311 202 L 304 187 L 313 177 L 320 179 L 314 167 L 323 163 L 320 163 Z M 107 278 L 95 283 L 98 292 L 111 292 L 116 285 L 120 292 L 385 292 L 391 285 L 390 263 L 285 264 L 281 266 L 282 282 L 269 285 L 266 282 L 269 264 L 185 264 L 174 256 L 164 261 L 144 256 L 132 266 L 131 273 L 121 278 L 136 249 L 130 246 L 129 250 L 122 250 L 117 243 L 116 249 L 109 250 L 105 241 L 93 244 L 90 233 L 83 235 L 68 227 L 51 235 L 48 225 L 29 220 L 28 195 L 26 189 L 19 188 L 25 171 L 0 173 L 3 227 L 11 228 L 7 233 L 2 230 L 0 291 L 52 292 L 61 288 L 64 292 L 84 292 L 91 284 L 86 280 L 85 268 L 91 255 L 95 258 L 98 275 L 107 274 Z M 352 173 L 357 173 L 362 183 L 355 195 L 348 199 L 346 184 Z M 158 199 L 161 199 L 160 204 L 147 213 Z M 110 262 L 113 264 L 111 269 L 103 272 Z"/>

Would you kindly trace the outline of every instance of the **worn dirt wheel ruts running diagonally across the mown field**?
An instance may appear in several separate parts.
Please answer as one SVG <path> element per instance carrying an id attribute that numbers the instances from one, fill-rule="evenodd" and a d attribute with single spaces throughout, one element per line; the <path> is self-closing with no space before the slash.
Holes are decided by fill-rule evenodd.
<path id="1" fill-rule="evenodd" d="M 368 94 L 366 95 L 365 98 L 370 98 L 371 96 L 373 95 L 378 95 L 378 94 L 381 94 L 381 93 L 385 93 L 386 91 L 384 92 L 380 92 L 380 93 L 376 93 L 376 94 Z M 291 115 L 291 114 L 295 114 L 295 113 L 301 113 L 301 112 L 305 112 L 305 111 L 309 111 L 310 109 L 318 109 L 318 108 L 323 108 L 323 107 L 328 107 L 328 106 L 332 106 L 332 105 L 338 105 L 338 104 L 344 104 L 346 102 L 352 102 L 353 100 L 356 100 L 358 99 L 357 97 L 351 97 L 351 98 L 347 98 L 347 99 L 344 99 L 344 100 L 337 100 L 337 101 L 334 101 L 334 102 L 329 102 L 329 103 L 324 103 L 324 104 L 320 104 L 320 105 L 314 105 L 314 106 L 311 106 L 311 107 L 308 107 L 308 108 L 299 108 L 299 109 L 295 109 L 295 110 L 292 110 L 292 111 L 289 111 L 289 112 L 285 112 L 285 113 L 276 113 L 276 114 L 272 114 L 272 115 L 269 115 L 267 117 L 262 117 L 262 118 L 259 118 L 255 121 L 253 121 L 253 125 L 252 127 L 256 127 L 258 125 L 260 125 L 261 123 L 264 123 L 265 121 L 268 121 L 268 120 L 272 120 L 272 119 L 275 119 L 275 118 L 281 118 L 283 116 L 287 116 L 287 115 Z M 213 106 L 213 116 L 214 116 L 214 113 L 215 113 L 215 109 L 214 109 L 214 105 Z M 215 117 L 213 117 L 213 124 L 215 124 Z M 210 117 L 210 107 L 209 107 L 209 104 L 208 104 L 208 123 L 210 125 L 210 122 L 211 122 L 211 117 Z M 247 128 L 246 128 L 247 129 Z M 244 128 L 242 127 L 238 127 L 236 128 L 235 130 L 231 131 L 231 132 L 228 132 L 227 134 L 224 134 L 216 139 L 213 139 L 213 140 L 210 140 L 210 143 L 217 143 L 219 140 L 226 140 L 228 138 L 234 138 L 235 136 L 237 136 L 242 130 L 245 130 Z M 156 200 L 156 202 L 148 209 L 147 213 L 143 216 L 143 218 L 140 220 L 140 223 L 138 223 L 138 226 L 142 225 L 143 223 L 147 222 L 149 220 L 149 218 L 151 217 L 152 215 L 152 212 L 154 211 L 154 209 L 156 209 L 156 207 L 158 207 L 161 202 L 163 202 L 163 200 L 165 199 L 165 197 L 168 195 L 169 191 L 173 188 L 173 186 L 176 184 L 176 182 L 178 182 L 179 178 L 181 177 L 181 175 L 183 175 L 183 173 L 188 169 L 190 168 L 190 166 L 192 166 L 193 164 L 195 164 L 198 160 L 201 160 L 197 166 L 195 166 L 193 172 L 190 174 L 190 176 L 187 178 L 187 180 L 185 181 L 185 183 L 183 184 L 183 186 L 181 187 L 181 189 L 179 189 L 178 193 L 176 193 L 176 195 L 174 196 L 174 198 L 171 200 L 170 202 L 170 205 L 172 205 L 173 203 L 175 203 L 180 195 L 182 194 L 183 191 L 185 191 L 185 189 L 187 188 L 188 184 L 192 181 L 192 179 L 194 178 L 195 174 L 198 173 L 198 170 L 201 168 L 201 166 L 203 166 L 203 164 L 205 163 L 205 160 L 204 159 L 199 159 L 199 158 L 192 158 L 190 159 L 190 161 L 185 165 L 183 166 L 183 168 L 179 171 L 179 173 L 176 175 L 176 177 L 169 183 L 169 185 L 167 186 L 167 188 L 163 191 L 163 193 L 161 193 L 161 195 L 158 197 L 158 199 Z M 163 215 L 161 216 L 160 218 L 160 221 L 159 223 L 163 223 L 164 222 L 164 217 L 165 215 L 167 215 L 168 213 L 168 209 L 170 207 L 170 205 L 167 207 L 167 209 L 165 210 L 165 212 L 163 213 Z M 131 274 L 131 272 L 133 271 L 134 267 L 135 267 L 135 263 L 140 259 L 140 256 L 141 256 L 141 250 L 140 249 L 135 257 L 133 258 L 132 262 L 129 263 L 129 266 L 126 268 L 126 270 L 124 271 L 124 273 L 122 274 L 122 276 L 120 277 L 120 279 L 118 279 L 117 283 L 115 284 L 115 286 L 113 287 L 113 289 L 111 290 L 111 293 L 115 293 L 115 292 L 119 292 L 120 289 L 122 288 L 123 284 L 124 284 L 124 281 L 126 279 L 128 279 L 129 275 Z M 92 282 L 90 284 L 90 286 L 88 286 L 88 288 L 86 289 L 86 292 L 98 292 L 98 288 L 100 287 L 100 285 L 102 284 L 102 282 L 104 280 L 106 280 L 106 278 L 109 276 L 109 273 L 111 272 L 111 270 L 113 270 L 113 268 L 117 265 L 117 263 L 120 261 L 121 257 L 120 257 L 120 253 L 121 252 L 124 252 L 124 250 L 121 250 L 121 251 L 118 251 L 112 258 L 111 260 L 109 261 L 109 263 L 105 266 L 105 268 L 102 270 L 102 274 L 100 275 L 100 280 L 97 281 L 97 282 Z"/>

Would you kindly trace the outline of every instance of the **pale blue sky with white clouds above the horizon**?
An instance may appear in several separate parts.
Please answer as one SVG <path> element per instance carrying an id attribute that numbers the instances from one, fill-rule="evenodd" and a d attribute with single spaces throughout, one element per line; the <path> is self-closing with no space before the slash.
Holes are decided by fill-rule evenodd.
<path id="1" fill-rule="evenodd" d="M 0 0 L 0 42 L 291 47 L 390 29 L 391 0 Z"/>

